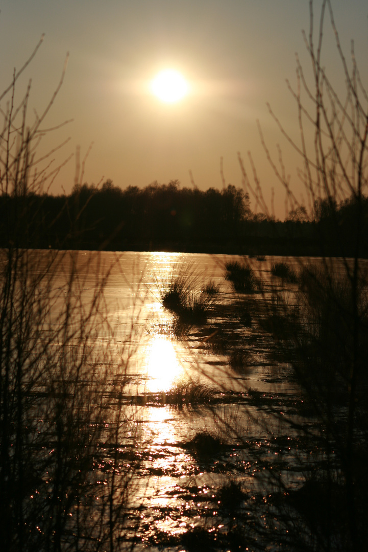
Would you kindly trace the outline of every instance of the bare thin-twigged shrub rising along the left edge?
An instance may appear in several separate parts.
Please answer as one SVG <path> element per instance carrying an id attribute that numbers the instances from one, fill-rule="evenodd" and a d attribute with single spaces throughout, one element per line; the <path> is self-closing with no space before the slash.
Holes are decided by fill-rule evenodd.
<path id="1" fill-rule="evenodd" d="M 129 479 L 127 471 L 117 473 L 115 453 L 111 470 L 103 473 L 103 447 L 117 442 L 115 428 L 122 417 L 102 393 L 109 380 L 110 347 L 99 349 L 98 360 L 93 348 L 101 325 L 106 331 L 109 270 L 103 273 L 98 252 L 84 254 L 82 261 L 77 251 L 31 249 L 43 230 L 42 187 L 59 170 L 34 162 L 40 139 L 48 134 L 40 126 L 56 94 L 31 125 L 29 88 L 20 105 L 13 104 L 17 79 L 36 50 L 2 95 L 9 94 L 9 109 L 0 110 L 0 191 L 6 213 L 0 226 L 8 240 L 0 252 L 1 546 L 78 550 L 94 542 L 106 549 L 115 542 L 115 531 L 121 535 L 124 530 Z M 34 209 L 37 194 L 41 200 Z M 78 220 L 78 211 L 75 215 Z M 94 291 L 86 300 L 91 274 Z M 110 346 L 111 334 L 104 337 Z M 124 385 L 124 374 L 121 379 Z"/>

